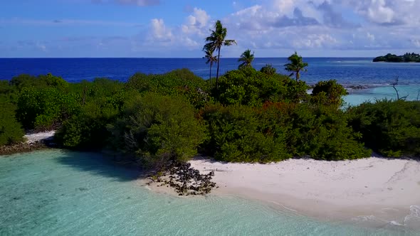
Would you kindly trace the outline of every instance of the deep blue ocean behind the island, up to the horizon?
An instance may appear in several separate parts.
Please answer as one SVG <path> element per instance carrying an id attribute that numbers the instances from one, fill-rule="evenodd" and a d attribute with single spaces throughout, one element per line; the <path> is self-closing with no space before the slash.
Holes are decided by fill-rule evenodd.
<path id="1" fill-rule="evenodd" d="M 420 63 L 372 63 L 372 58 L 304 58 L 304 61 L 309 66 L 301 79 L 310 85 L 335 79 L 346 87 L 371 87 L 389 85 L 397 76 L 401 85 L 420 85 Z M 287 58 L 256 58 L 253 67 L 259 70 L 271 64 L 278 73 L 288 74 L 285 63 Z M 237 58 L 221 58 L 220 72 L 235 70 L 238 65 Z M 209 65 L 204 58 L 0 58 L 0 80 L 10 80 L 23 73 L 52 73 L 68 82 L 96 77 L 126 81 L 137 72 L 167 73 L 179 68 L 188 68 L 204 79 L 209 77 Z M 212 75 L 216 75 L 216 66 Z"/>

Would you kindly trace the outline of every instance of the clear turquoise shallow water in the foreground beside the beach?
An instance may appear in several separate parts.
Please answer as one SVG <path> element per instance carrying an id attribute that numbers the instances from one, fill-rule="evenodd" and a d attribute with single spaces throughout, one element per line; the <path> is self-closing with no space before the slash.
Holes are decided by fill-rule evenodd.
<path id="1" fill-rule="evenodd" d="M 269 205 L 147 190 L 100 154 L 0 156 L 0 235 L 419 235 L 402 226 L 320 222 Z"/>

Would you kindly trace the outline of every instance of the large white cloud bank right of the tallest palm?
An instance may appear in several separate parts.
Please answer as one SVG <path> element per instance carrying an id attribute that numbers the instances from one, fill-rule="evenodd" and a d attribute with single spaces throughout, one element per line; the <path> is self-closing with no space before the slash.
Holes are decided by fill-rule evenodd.
<path id="1" fill-rule="evenodd" d="M 238 48 L 410 50 L 419 43 L 410 39 L 420 38 L 419 9 L 420 0 L 268 0 L 224 21 Z"/>

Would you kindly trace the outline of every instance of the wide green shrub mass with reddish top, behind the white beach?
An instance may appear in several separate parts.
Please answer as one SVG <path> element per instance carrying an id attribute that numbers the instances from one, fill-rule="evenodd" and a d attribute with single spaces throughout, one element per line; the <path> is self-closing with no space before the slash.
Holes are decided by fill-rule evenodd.
<path id="1" fill-rule="evenodd" d="M 345 114 L 310 104 L 266 102 L 261 108 L 208 106 L 206 151 L 221 161 L 280 161 L 292 156 L 342 160 L 367 157 Z"/>

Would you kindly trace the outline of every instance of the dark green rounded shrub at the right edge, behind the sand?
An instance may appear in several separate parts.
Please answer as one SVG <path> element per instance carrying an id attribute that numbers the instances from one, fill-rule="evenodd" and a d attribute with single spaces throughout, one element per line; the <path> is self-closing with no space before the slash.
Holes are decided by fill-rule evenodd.
<path id="1" fill-rule="evenodd" d="M 384 156 L 419 156 L 420 102 L 378 100 L 349 109 L 362 141 Z"/>

